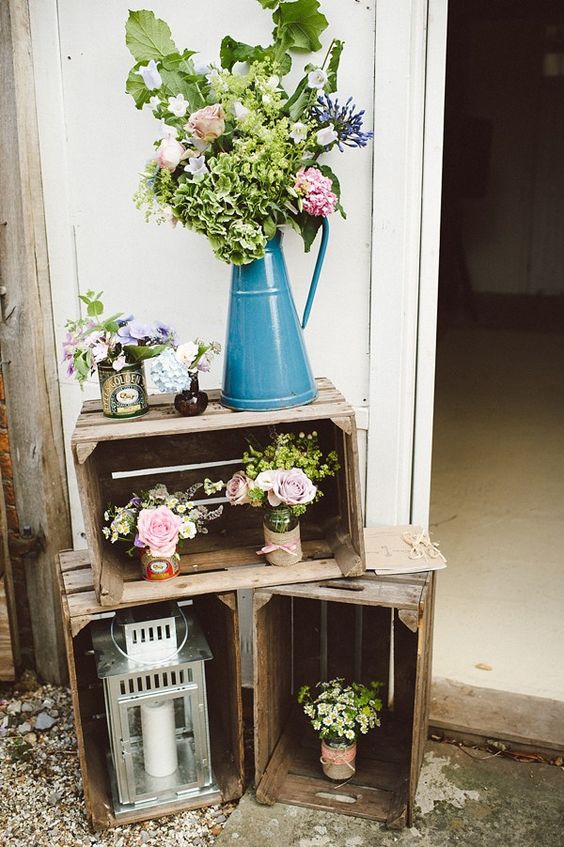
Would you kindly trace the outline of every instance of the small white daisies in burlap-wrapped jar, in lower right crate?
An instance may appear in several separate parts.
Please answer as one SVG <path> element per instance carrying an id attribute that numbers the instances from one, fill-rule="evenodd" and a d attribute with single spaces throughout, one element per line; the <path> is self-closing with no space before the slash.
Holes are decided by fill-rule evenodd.
<path id="1" fill-rule="evenodd" d="M 380 682 L 348 685 L 343 677 L 318 682 L 316 692 L 303 685 L 298 703 L 319 733 L 321 766 L 329 779 L 347 780 L 356 773 L 356 740 L 380 726 L 378 712 L 382 701 L 377 696 Z"/>

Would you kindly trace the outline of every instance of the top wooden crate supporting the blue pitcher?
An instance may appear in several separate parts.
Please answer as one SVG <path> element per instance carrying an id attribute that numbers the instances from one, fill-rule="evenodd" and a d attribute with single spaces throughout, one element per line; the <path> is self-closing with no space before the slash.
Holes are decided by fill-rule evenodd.
<path id="1" fill-rule="evenodd" d="M 364 540 L 354 411 L 328 380 L 318 380 L 319 397 L 308 406 L 279 412 L 233 412 L 210 392 L 204 415 L 180 417 L 172 398 L 151 398 L 151 411 L 136 420 L 105 418 L 97 401 L 84 404 L 72 437 L 94 586 L 102 605 L 140 604 L 179 596 L 359 575 Z M 173 580 L 143 582 L 139 563 L 120 544 L 102 536 L 109 502 L 126 503 L 134 491 L 157 482 L 169 491 L 194 482 L 227 480 L 240 465 L 248 439 L 266 443 L 269 428 L 317 431 L 324 451 L 336 450 L 341 470 L 324 480 L 324 496 L 301 518 L 304 561 L 290 568 L 265 566 L 260 510 L 226 506 L 207 535 L 190 542 Z M 166 469 L 166 470 L 163 470 Z M 180 469 L 179 469 L 180 468 Z M 117 474 L 117 476 L 116 476 Z M 257 564 L 257 562 L 260 562 Z"/>

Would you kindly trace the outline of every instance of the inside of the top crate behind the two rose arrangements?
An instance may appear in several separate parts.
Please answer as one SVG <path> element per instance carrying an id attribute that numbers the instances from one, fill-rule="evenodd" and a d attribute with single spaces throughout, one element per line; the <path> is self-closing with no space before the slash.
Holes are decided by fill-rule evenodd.
<path id="1" fill-rule="evenodd" d="M 359 552 L 358 522 L 351 513 L 351 496 L 347 495 L 356 479 L 346 449 L 350 436 L 327 419 L 287 423 L 278 429 L 295 433 L 315 430 L 322 450 L 337 452 L 340 470 L 323 481 L 324 496 L 302 516 L 300 528 L 306 559 L 335 557 L 346 573 L 351 556 Z M 125 581 L 139 578 L 138 562 L 126 555 L 125 545 L 102 539 L 103 514 L 109 503 L 125 504 L 133 493 L 157 483 L 164 483 L 173 492 L 186 490 L 206 477 L 226 481 L 242 467 L 240 459 L 248 443 L 264 446 L 269 438 L 270 428 L 261 426 L 100 441 L 84 462 L 81 488 L 89 492 L 83 504 L 85 515 L 89 515 L 86 529 L 91 552 L 101 559 L 102 581 L 104 576 L 110 581 L 110 574 L 118 574 Z M 178 466 L 189 467 L 163 470 Z M 198 499 L 207 502 L 205 495 L 197 494 L 196 502 Z M 190 542 L 189 555 L 182 556 L 181 571 L 188 574 L 256 565 L 256 550 L 262 543 L 261 510 L 225 504 L 223 515 L 209 524 L 209 533 Z"/>

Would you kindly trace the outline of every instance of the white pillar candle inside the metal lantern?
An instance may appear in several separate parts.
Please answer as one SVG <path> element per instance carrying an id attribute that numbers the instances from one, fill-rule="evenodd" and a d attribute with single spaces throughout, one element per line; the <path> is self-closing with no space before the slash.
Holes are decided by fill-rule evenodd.
<path id="1" fill-rule="evenodd" d="M 141 728 L 145 770 L 151 776 L 170 776 L 178 767 L 173 701 L 141 706 Z"/>

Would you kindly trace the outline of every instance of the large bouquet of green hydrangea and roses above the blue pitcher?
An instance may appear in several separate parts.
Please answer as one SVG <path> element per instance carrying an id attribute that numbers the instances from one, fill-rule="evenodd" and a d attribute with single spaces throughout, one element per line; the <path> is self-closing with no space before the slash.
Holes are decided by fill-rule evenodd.
<path id="1" fill-rule="evenodd" d="M 305 65 L 292 92 L 284 88 L 291 52 L 321 50 L 328 22 L 319 0 L 258 2 L 272 10 L 272 44 L 225 36 L 220 61 L 210 64 L 179 51 L 150 11 L 130 11 L 126 25 L 135 59 L 126 89 L 160 122 L 136 203 L 147 218 L 203 233 L 235 265 L 262 258 L 282 224 L 301 233 L 308 251 L 323 218 L 335 210 L 345 217 L 339 181 L 319 159 L 372 138 L 364 110 L 335 95 L 342 41 Z"/>

